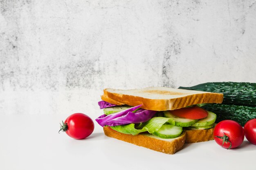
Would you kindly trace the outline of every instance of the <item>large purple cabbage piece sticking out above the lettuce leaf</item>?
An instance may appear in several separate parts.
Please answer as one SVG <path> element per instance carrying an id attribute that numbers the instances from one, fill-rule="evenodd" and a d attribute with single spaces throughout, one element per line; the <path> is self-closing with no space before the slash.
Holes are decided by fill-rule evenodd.
<path id="1" fill-rule="evenodd" d="M 131 124 L 131 123 L 142 123 L 142 122 L 148 121 L 157 112 L 157 111 L 145 110 L 145 109 L 139 109 L 135 113 L 132 112 L 138 109 L 139 107 L 141 107 L 141 105 L 132 107 L 124 111 L 119 111 L 117 113 L 112 113 L 110 115 L 104 114 L 104 115 L 101 115 L 99 118 L 97 118 L 96 121 L 102 127 L 118 126 L 118 125 Z"/>

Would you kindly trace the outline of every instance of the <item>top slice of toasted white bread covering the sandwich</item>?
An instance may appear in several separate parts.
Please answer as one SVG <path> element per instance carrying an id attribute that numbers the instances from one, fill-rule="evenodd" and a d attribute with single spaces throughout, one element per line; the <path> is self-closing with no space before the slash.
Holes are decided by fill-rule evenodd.
<path id="1" fill-rule="evenodd" d="M 221 103 L 223 94 L 168 87 L 149 87 L 145 89 L 104 89 L 102 100 L 110 99 L 122 104 L 142 109 L 166 111 L 201 103 Z M 111 102 L 110 102 L 111 103 Z"/>

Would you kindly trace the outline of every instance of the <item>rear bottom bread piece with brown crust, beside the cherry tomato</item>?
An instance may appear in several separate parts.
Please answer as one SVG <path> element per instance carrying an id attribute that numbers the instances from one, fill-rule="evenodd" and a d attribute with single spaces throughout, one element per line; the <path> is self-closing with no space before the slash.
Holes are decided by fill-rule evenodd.
<path id="1" fill-rule="evenodd" d="M 197 130 L 184 130 L 186 132 L 185 143 L 195 143 L 213 140 L 213 130 L 211 129 L 197 129 Z"/>

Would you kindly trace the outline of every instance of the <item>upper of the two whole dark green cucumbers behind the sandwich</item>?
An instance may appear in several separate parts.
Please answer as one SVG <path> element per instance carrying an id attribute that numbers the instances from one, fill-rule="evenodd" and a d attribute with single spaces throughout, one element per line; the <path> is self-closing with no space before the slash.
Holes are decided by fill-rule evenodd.
<path id="1" fill-rule="evenodd" d="M 222 93 L 222 104 L 256 106 L 256 83 L 211 82 L 179 89 Z"/>

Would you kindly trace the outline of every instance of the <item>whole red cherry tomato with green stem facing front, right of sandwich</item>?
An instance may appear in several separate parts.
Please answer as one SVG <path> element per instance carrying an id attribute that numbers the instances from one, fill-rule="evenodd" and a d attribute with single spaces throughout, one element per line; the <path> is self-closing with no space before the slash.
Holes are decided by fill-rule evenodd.
<path id="1" fill-rule="evenodd" d="M 243 143 L 245 132 L 243 127 L 234 120 L 222 120 L 213 131 L 214 140 L 223 148 L 236 148 Z"/>

